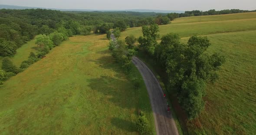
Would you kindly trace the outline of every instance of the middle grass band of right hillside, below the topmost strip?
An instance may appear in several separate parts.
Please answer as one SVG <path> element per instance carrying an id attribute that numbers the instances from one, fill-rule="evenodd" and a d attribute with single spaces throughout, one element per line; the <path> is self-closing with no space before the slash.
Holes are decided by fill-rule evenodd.
<path id="1" fill-rule="evenodd" d="M 159 26 L 160 36 L 168 33 L 176 33 L 181 37 L 188 37 L 192 35 L 209 35 L 224 32 L 237 32 L 256 30 L 256 16 L 253 19 L 246 20 L 228 20 L 217 22 L 203 22 L 203 23 L 181 23 L 169 24 Z M 135 35 L 139 37 L 142 35 L 141 27 L 130 28 L 121 33 L 120 39 L 125 39 L 126 36 Z"/>

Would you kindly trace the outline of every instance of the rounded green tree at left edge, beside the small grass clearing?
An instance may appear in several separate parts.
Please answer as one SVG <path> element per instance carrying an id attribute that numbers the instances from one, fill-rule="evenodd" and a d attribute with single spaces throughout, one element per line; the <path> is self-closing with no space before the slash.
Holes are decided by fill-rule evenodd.
<path id="1" fill-rule="evenodd" d="M 16 54 L 17 46 L 15 42 L 0 39 L 0 56 L 10 56 Z"/>

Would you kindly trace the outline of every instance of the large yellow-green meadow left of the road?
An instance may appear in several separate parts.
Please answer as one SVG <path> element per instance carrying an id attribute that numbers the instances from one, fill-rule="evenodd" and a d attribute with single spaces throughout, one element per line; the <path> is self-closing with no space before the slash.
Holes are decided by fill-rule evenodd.
<path id="1" fill-rule="evenodd" d="M 138 134 L 142 110 L 154 130 L 144 81 L 129 76 L 108 51 L 106 35 L 71 37 L 0 87 L 0 133 Z M 139 90 L 133 87 L 137 78 Z"/>

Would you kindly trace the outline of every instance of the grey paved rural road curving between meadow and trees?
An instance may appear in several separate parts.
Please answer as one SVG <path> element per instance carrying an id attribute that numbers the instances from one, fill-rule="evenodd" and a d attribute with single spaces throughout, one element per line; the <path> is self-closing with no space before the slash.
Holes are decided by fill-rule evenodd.
<path id="1" fill-rule="evenodd" d="M 114 35 L 111 35 L 111 38 L 113 41 L 116 40 Z M 173 116 L 171 113 L 167 113 L 166 100 L 158 80 L 137 57 L 133 57 L 132 62 L 140 71 L 147 87 L 157 135 L 179 135 Z"/>

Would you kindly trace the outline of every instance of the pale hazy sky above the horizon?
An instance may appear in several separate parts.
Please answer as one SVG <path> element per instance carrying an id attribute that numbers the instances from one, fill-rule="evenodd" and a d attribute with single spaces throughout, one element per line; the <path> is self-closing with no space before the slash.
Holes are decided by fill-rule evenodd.
<path id="1" fill-rule="evenodd" d="M 256 0 L 0 0 L 0 4 L 92 10 L 256 10 Z"/>

